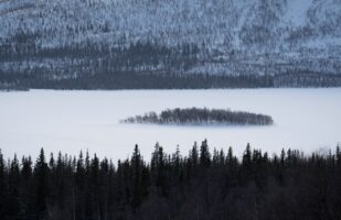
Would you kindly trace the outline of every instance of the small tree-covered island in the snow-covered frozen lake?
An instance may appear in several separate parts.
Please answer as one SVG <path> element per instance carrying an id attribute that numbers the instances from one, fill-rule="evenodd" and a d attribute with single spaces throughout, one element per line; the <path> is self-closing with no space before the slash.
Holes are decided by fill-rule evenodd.
<path id="1" fill-rule="evenodd" d="M 266 114 L 206 108 L 167 109 L 160 114 L 149 112 L 143 116 L 129 117 L 121 122 L 180 125 L 270 125 L 274 123 L 273 118 Z"/>

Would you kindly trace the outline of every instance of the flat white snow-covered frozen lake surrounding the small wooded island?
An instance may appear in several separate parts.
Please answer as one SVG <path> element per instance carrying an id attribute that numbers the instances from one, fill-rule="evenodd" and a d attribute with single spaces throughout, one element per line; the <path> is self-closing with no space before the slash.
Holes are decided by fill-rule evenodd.
<path id="1" fill-rule="evenodd" d="M 119 120 L 167 108 L 230 108 L 273 117 L 270 127 L 177 127 L 120 124 Z M 113 160 L 131 155 L 134 145 L 149 158 L 156 142 L 168 153 L 179 144 L 187 154 L 194 141 L 210 148 L 233 146 L 307 153 L 341 142 L 341 88 L 235 90 L 119 90 L 0 92 L 0 148 L 6 157 L 81 150 Z"/>

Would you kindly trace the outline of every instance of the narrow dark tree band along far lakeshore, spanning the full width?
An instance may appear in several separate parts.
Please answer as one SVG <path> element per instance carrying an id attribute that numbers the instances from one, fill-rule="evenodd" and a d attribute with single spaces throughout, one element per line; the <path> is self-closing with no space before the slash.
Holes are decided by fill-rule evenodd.
<path id="1" fill-rule="evenodd" d="M 84 72 L 82 69 L 85 69 Z M 340 87 L 341 75 L 203 75 L 168 72 L 113 72 L 86 67 L 60 69 L 32 68 L 25 73 L 0 69 L 0 89 L 214 89 L 214 88 L 283 88 Z"/>

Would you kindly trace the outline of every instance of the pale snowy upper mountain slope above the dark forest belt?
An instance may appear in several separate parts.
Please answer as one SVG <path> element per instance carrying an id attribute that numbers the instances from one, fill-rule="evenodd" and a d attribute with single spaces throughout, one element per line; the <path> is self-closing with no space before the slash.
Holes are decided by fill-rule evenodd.
<path id="1" fill-rule="evenodd" d="M 0 18 L 2 38 L 39 33 L 46 46 L 151 38 L 278 47 L 297 37 L 341 37 L 341 0 L 2 0 Z"/>

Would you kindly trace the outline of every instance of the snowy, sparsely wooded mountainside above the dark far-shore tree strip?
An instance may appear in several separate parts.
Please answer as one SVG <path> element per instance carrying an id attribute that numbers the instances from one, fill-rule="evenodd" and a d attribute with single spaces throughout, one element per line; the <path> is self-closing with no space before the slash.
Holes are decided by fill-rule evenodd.
<path id="1" fill-rule="evenodd" d="M 0 18 L 11 76 L 341 74 L 341 0 L 2 0 Z"/>

